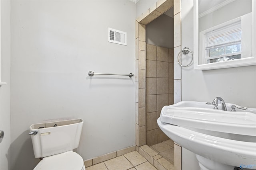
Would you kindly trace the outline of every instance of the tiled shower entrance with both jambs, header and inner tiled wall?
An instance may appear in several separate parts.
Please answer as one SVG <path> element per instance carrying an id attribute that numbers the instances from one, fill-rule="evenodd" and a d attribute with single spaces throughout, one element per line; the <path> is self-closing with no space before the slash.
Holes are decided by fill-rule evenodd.
<path id="1" fill-rule="evenodd" d="M 156 119 L 160 116 L 162 106 L 181 101 L 181 69 L 178 63 L 174 62 L 181 49 L 180 4 L 180 0 L 158 0 L 136 19 L 136 150 L 137 147 L 154 145 L 168 139 L 159 129 Z M 158 53 L 160 51 L 166 53 L 167 49 L 146 45 L 146 25 L 172 7 L 174 8 L 174 49 L 168 49 L 167 60 L 167 57 L 157 58 L 157 52 L 149 52 L 159 49 Z M 151 56 L 153 54 L 154 58 Z M 176 143 L 174 143 L 174 169 L 181 170 L 181 147 Z"/>

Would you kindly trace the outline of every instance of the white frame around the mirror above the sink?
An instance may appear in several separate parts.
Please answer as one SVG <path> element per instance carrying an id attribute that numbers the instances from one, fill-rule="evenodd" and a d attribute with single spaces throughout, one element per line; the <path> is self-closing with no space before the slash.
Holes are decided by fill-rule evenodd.
<path id="1" fill-rule="evenodd" d="M 256 1 L 252 0 L 252 57 L 218 63 L 199 64 L 198 0 L 194 0 L 194 70 L 212 70 L 256 65 Z"/>

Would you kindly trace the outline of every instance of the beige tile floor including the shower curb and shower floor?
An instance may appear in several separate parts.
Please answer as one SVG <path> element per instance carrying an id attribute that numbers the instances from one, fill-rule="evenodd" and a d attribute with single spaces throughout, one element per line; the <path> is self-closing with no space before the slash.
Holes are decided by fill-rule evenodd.
<path id="1" fill-rule="evenodd" d="M 144 145 L 139 147 L 138 151 L 141 154 L 135 150 L 88 166 L 86 170 L 174 170 L 174 142 L 172 140 L 151 147 Z"/>

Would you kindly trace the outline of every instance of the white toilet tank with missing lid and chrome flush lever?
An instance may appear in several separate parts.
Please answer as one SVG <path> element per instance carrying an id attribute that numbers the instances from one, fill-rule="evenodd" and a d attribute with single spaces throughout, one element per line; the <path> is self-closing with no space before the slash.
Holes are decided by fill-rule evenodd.
<path id="1" fill-rule="evenodd" d="M 30 126 L 34 155 L 43 158 L 78 148 L 82 119 L 38 123 Z"/>

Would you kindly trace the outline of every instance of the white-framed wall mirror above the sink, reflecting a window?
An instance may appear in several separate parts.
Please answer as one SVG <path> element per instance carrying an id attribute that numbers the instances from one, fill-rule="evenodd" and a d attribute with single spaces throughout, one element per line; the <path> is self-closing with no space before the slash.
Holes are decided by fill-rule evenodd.
<path id="1" fill-rule="evenodd" d="M 194 70 L 256 65 L 256 0 L 194 0 Z"/>

